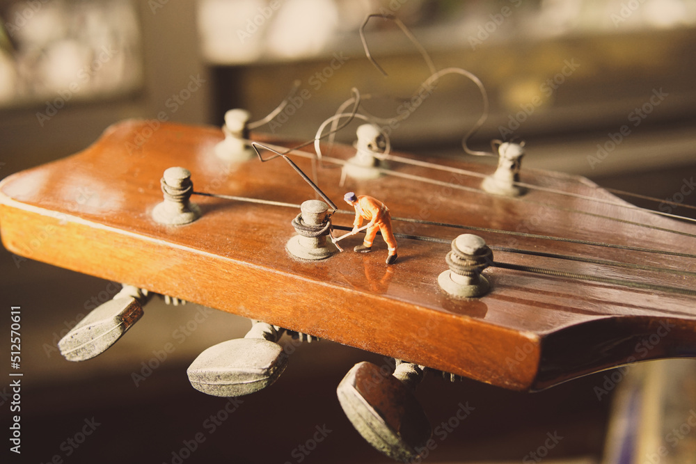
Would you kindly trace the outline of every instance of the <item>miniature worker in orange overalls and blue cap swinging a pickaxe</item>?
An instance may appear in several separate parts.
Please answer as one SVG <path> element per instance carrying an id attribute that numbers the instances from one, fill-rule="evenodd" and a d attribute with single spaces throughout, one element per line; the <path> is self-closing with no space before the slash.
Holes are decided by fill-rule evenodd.
<path id="1" fill-rule="evenodd" d="M 389 255 L 387 256 L 386 263 L 394 264 L 397 259 L 397 246 L 396 239 L 391 231 L 389 209 L 384 206 L 383 202 L 367 195 L 360 195 L 358 197 L 355 193 L 348 192 L 343 199 L 355 208 L 355 221 L 353 221 L 353 230 L 350 232 L 351 235 L 358 233 L 358 229 L 363 225 L 363 220 L 370 221 L 370 223 L 367 224 L 363 244 L 356 246 L 354 250 L 360 253 L 369 253 L 372 251 L 372 241 L 374 241 L 374 237 L 379 230 L 382 232 L 382 238 L 389 248 Z"/>

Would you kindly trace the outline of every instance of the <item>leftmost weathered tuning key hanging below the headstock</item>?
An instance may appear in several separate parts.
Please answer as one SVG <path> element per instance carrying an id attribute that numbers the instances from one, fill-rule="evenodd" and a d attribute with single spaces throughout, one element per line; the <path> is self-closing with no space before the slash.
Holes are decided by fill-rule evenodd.
<path id="1" fill-rule="evenodd" d="M 60 342 L 58 349 L 68 361 L 84 361 L 104 353 L 143 316 L 147 290 L 132 285 L 123 288 L 87 314 Z"/>

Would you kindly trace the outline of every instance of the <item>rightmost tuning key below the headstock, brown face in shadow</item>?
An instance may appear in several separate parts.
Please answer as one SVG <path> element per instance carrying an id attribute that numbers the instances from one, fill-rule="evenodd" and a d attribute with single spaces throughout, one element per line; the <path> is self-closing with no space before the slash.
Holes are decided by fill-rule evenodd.
<path id="1" fill-rule="evenodd" d="M 424 367 L 402 362 L 385 374 L 372 362 L 359 362 L 338 385 L 338 401 L 356 431 L 386 456 L 402 462 L 419 457 L 432 428 L 413 395 Z"/>

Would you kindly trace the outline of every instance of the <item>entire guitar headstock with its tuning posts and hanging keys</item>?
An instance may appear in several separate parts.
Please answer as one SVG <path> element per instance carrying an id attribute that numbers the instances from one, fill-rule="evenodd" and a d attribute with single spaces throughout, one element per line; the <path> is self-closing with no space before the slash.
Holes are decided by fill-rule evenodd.
<path id="1" fill-rule="evenodd" d="M 192 385 L 209 394 L 273 383 L 287 361 L 276 344 L 285 332 L 380 353 L 399 360 L 394 375 L 356 365 L 338 395 L 363 436 L 406 460 L 429 437 L 411 393 L 427 371 L 540 390 L 696 354 L 692 223 L 633 207 L 587 179 L 520 173 L 516 144 L 500 147 L 495 173 L 382 155 L 359 138 L 356 147 L 324 146 L 320 160 L 313 147 L 288 152 L 326 196 L 317 198 L 292 166 L 261 163 L 240 136 L 132 120 L 0 184 L 10 252 L 125 284 L 61 341 L 66 358 L 107 349 L 152 294 L 254 321 L 244 339 L 189 368 Z M 264 159 L 269 148 L 296 146 L 251 138 Z M 93 195 L 78 201 L 84 189 Z M 388 216 L 370 253 L 359 252 L 363 232 L 343 237 L 366 208 L 343 201 L 347 192 L 377 202 L 372 218 Z M 398 247 L 390 264 L 389 230 Z M 51 239 L 33 246 L 47 231 Z M 365 401 L 390 406 L 367 417 Z"/>

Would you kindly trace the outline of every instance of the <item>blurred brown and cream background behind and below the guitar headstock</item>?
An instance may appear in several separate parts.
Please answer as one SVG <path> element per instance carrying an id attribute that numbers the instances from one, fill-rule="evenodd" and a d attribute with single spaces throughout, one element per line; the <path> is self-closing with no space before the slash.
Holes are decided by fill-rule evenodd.
<path id="1" fill-rule="evenodd" d="M 685 187 L 696 173 L 696 0 L 2 0 L 0 177 L 82 150 L 126 118 L 219 126 L 239 107 L 260 119 L 295 81 L 305 97 L 260 131 L 313 138 L 352 87 L 379 95 L 365 108 L 393 118 L 397 98 L 430 72 L 395 24 L 376 18 L 365 32 L 388 76 L 380 74 L 358 35 L 368 13 L 399 17 L 438 69 L 464 67 L 481 79 L 491 110 L 472 147 L 519 137 L 527 144 L 523 168 L 696 205 L 693 186 Z M 390 138 L 397 150 L 459 156 L 481 113 L 473 83 L 447 77 Z M 244 335 L 248 321 L 151 303 L 113 349 L 73 365 L 56 342 L 90 302 L 113 296 L 113 286 L 1 256 L 3 304 L 23 308 L 26 366 L 22 456 L 9 462 L 388 462 L 351 429 L 335 398 L 355 362 L 381 365 L 378 356 L 330 342 L 299 346 L 278 383 L 225 409 L 225 400 L 194 391 L 185 370 L 208 346 Z M 176 349 L 160 359 L 173 341 Z M 0 346 L 9 351 L 6 337 Z M 652 374 L 643 367 L 630 374 L 693 372 L 690 361 L 650 364 L 658 365 Z M 621 461 L 612 448 L 612 424 L 635 417 L 616 406 L 628 401 L 615 398 L 619 389 L 598 399 L 606 375 L 535 394 L 429 379 L 418 396 L 433 424 L 461 403 L 475 412 L 425 461 L 639 462 Z M 694 401 L 690 388 L 677 396 Z M 688 424 L 690 404 L 674 406 L 676 413 L 653 406 L 653 419 L 672 414 L 665 423 Z M 212 432 L 211 415 L 225 417 Z M 88 423 L 100 425 L 80 436 Z M 310 454 L 298 451 L 324 425 L 326 439 Z M 205 442 L 190 451 L 196 433 Z M 667 433 L 653 431 L 658 441 L 645 445 L 640 462 L 696 462 L 696 433 L 655 454 Z M 543 449 L 552 435 L 563 438 Z"/>

